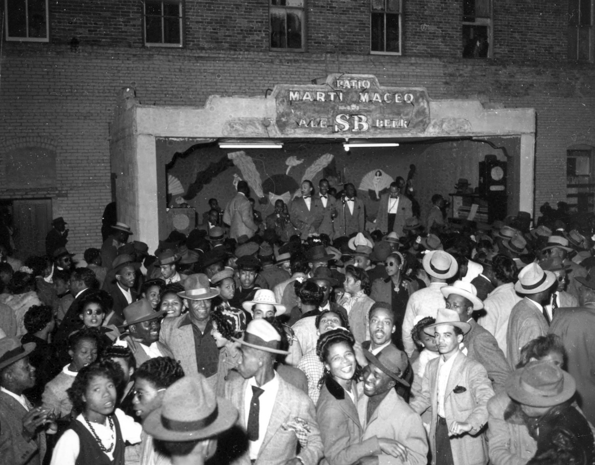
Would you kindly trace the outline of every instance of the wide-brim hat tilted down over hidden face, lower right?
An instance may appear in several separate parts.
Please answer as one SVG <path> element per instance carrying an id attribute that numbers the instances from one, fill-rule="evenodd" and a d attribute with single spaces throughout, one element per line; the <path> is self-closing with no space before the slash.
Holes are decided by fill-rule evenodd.
<path id="1" fill-rule="evenodd" d="M 577 390 L 572 375 L 553 363 L 530 362 L 506 380 L 506 394 L 532 407 L 553 407 L 569 400 Z"/>

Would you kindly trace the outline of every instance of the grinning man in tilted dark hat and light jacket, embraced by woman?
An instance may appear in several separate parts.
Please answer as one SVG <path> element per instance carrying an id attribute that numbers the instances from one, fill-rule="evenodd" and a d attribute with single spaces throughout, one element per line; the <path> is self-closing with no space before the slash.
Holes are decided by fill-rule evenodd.
<path id="1" fill-rule="evenodd" d="M 405 352 L 389 345 L 374 356 L 365 354 L 364 395 L 358 400 L 359 422 L 364 429 L 362 439 L 388 438 L 397 442 L 400 463 L 427 464 L 428 441 L 421 417 L 400 397 L 395 387 L 409 383 L 403 373 L 409 365 Z M 378 465 L 395 463 L 392 455 L 377 455 Z M 397 462 L 398 463 L 398 462 Z"/>

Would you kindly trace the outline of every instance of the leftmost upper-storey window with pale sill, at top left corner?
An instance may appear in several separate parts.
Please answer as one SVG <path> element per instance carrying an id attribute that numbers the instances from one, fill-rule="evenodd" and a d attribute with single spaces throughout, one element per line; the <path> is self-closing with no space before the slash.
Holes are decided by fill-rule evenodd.
<path id="1" fill-rule="evenodd" d="M 48 0 L 4 0 L 6 40 L 48 42 Z"/>

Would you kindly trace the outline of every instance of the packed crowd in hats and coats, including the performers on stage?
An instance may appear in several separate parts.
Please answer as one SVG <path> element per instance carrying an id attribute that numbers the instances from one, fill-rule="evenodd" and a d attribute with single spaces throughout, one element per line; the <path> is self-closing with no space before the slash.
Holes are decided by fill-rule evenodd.
<path id="1" fill-rule="evenodd" d="M 352 184 L 262 219 L 115 222 L 83 259 L 0 252 L 0 463 L 591 465 L 595 238 L 527 214 L 365 230 Z"/>

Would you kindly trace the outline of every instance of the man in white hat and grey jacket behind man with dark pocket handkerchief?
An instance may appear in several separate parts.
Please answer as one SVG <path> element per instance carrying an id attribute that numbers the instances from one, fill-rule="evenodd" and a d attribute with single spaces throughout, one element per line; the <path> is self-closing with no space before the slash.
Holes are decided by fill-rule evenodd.
<path id="1" fill-rule="evenodd" d="M 504 352 L 498 347 L 496 338 L 487 329 L 482 328 L 472 318 L 472 313 L 483 309 L 483 302 L 478 299 L 474 285 L 469 282 L 455 281 L 440 290 L 446 299 L 446 308 L 455 310 L 461 321 L 469 323 L 471 329 L 465 334 L 462 351 L 465 355 L 481 363 L 487 370 L 494 391 L 504 389 L 506 379 L 511 372 Z"/>

